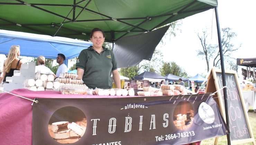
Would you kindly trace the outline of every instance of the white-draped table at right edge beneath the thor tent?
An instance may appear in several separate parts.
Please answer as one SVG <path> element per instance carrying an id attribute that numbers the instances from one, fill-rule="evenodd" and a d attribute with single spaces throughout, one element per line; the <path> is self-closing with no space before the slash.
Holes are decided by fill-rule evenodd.
<path id="1" fill-rule="evenodd" d="M 242 91 L 245 101 L 245 109 L 248 112 L 249 106 L 253 106 L 254 111 L 256 111 L 256 91 Z"/>

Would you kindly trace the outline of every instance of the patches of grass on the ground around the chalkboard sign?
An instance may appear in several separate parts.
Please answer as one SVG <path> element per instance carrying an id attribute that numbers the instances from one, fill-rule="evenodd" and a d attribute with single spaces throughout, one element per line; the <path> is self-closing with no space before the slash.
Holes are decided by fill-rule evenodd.
<path id="1" fill-rule="evenodd" d="M 253 131 L 254 139 L 256 140 L 256 113 L 253 112 L 252 106 L 249 107 L 249 122 Z M 213 145 L 215 141 L 215 138 L 205 139 L 201 142 L 201 145 Z M 218 145 L 226 145 L 228 144 L 227 136 L 220 136 L 218 139 Z M 241 145 L 252 145 L 252 143 L 246 143 Z"/>

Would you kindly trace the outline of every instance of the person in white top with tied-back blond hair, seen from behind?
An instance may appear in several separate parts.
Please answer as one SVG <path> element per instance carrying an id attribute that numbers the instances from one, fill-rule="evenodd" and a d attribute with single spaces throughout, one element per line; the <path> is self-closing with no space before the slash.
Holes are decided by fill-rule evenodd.
<path id="1" fill-rule="evenodd" d="M 54 77 L 56 77 L 56 75 L 53 73 L 53 71 L 45 66 L 45 57 L 44 56 L 37 57 L 37 64 L 38 64 L 38 66 L 36 66 L 35 73 L 53 75 Z"/>

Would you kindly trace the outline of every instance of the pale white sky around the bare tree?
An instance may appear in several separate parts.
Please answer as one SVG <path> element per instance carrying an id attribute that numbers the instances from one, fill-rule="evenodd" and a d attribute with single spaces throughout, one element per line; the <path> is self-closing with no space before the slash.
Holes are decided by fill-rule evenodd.
<path id="1" fill-rule="evenodd" d="M 239 50 L 232 53 L 234 58 L 255 58 L 256 49 L 254 45 L 255 10 L 256 1 L 254 0 L 219 0 L 218 16 L 220 29 L 229 27 L 237 34 L 234 45 L 242 46 Z M 189 76 L 196 74 L 207 74 L 207 65 L 204 59 L 197 56 L 198 49 L 202 49 L 196 32 L 202 32 L 209 28 L 212 41 L 217 39 L 217 28 L 215 12 L 213 9 L 184 18 L 179 22 L 181 32 L 176 32 L 176 37 L 164 39 L 165 45 L 158 45 L 156 49 L 164 54 L 164 61 L 175 61 L 182 67 Z M 0 56 L 2 57 L 2 55 Z M 212 63 L 210 63 L 210 68 Z M 0 63 L 2 68 L 2 60 Z M 239 70 L 241 67 L 239 67 Z M 1 69 L 0 69 L 1 70 Z"/>

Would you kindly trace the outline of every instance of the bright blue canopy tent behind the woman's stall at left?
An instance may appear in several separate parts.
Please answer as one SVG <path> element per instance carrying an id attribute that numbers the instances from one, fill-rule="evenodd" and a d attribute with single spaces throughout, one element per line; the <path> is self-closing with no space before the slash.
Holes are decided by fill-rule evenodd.
<path id="1" fill-rule="evenodd" d="M 66 56 L 67 60 L 77 57 L 91 42 L 64 37 L 51 37 L 24 32 L 0 30 L 0 54 L 8 54 L 12 45 L 20 46 L 20 56 L 56 59 L 57 54 Z"/>

